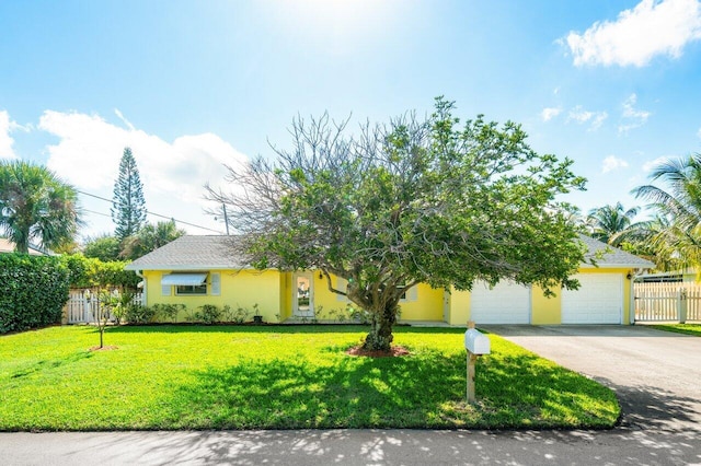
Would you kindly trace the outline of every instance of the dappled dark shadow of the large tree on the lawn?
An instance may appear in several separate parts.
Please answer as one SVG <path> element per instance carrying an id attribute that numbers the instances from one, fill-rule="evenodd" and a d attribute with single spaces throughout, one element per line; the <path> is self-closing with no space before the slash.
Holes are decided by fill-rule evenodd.
<path id="1" fill-rule="evenodd" d="M 338 350 L 337 348 L 335 350 Z M 484 358 L 480 403 L 468 405 L 466 359 L 422 350 L 404 358 L 241 361 L 192 374 L 174 387 L 166 428 L 538 428 L 610 427 L 610 391 L 532 354 Z M 582 384 L 609 403 L 582 395 Z M 612 401 L 611 401 L 612 399 Z M 613 412 L 612 412 L 613 411 Z M 573 421 L 578 419 L 578 421 Z M 584 419 L 584 421 L 582 421 Z"/>

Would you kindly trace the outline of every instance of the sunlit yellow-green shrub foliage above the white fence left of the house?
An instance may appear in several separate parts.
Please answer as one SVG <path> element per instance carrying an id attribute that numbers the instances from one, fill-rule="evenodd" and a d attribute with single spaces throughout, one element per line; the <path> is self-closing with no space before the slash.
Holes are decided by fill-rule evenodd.
<path id="1" fill-rule="evenodd" d="M 127 263 L 103 263 L 81 254 L 61 256 L 60 260 L 70 271 L 72 288 L 119 287 L 135 290 L 141 279 L 130 270 L 124 270 Z"/>

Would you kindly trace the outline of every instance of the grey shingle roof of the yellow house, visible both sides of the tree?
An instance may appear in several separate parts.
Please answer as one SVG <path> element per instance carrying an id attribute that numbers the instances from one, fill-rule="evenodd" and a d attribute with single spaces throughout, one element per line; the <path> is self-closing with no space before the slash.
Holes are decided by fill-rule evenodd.
<path id="1" fill-rule="evenodd" d="M 606 243 L 581 235 L 588 248 L 587 257 L 594 257 L 600 268 L 652 268 L 654 264 L 625 253 Z M 250 268 L 243 259 L 234 257 L 231 244 L 235 236 L 185 235 L 163 247 L 128 264 L 126 270 L 217 270 Z M 596 254 L 606 252 L 600 258 Z M 583 268 L 594 268 L 584 264 Z"/>

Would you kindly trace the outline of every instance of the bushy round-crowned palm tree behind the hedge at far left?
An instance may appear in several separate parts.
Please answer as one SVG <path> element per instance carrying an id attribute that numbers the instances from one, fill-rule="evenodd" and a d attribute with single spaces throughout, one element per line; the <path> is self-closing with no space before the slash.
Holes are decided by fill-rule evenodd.
<path id="1" fill-rule="evenodd" d="M 30 243 L 51 248 L 73 240 L 81 224 L 78 194 L 48 168 L 0 162 L 0 229 L 27 253 Z"/>

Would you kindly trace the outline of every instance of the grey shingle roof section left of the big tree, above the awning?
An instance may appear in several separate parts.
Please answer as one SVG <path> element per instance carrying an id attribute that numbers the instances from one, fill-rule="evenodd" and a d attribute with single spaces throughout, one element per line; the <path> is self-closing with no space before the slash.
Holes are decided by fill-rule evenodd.
<path id="1" fill-rule="evenodd" d="M 246 268 L 232 255 L 235 236 L 185 235 L 128 264 L 126 270 L 216 270 Z"/>

